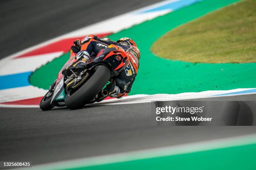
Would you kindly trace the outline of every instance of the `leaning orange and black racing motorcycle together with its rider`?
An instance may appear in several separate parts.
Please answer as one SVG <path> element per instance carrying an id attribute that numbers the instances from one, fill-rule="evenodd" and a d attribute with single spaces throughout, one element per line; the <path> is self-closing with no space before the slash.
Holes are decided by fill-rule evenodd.
<path id="1" fill-rule="evenodd" d="M 100 40 L 94 35 L 76 42 L 79 44 L 72 46 L 76 51 L 71 49 L 69 60 L 42 98 L 42 110 L 65 105 L 77 109 L 84 104 L 103 100 L 110 92 L 114 94 L 113 97 L 119 98 L 131 91 L 139 67 L 140 52 L 137 47 Z M 83 57 L 77 57 L 77 52 L 81 50 L 84 50 L 81 52 Z M 83 63 L 84 67 L 77 63 Z M 115 93 L 102 90 L 108 81 L 113 82 L 110 85 L 114 84 Z M 84 86 L 84 83 L 89 85 Z"/>

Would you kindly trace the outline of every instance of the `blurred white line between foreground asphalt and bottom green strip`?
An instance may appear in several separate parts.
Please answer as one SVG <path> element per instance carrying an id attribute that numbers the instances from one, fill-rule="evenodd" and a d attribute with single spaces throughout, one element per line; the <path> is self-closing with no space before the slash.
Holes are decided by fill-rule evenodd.
<path id="1" fill-rule="evenodd" d="M 157 158 L 171 155 L 180 155 L 185 153 L 195 153 L 199 151 L 215 150 L 220 148 L 229 148 L 242 145 L 256 144 L 256 134 L 242 135 L 236 137 L 205 140 L 195 143 L 186 143 L 167 147 L 159 147 L 146 150 L 137 150 L 124 153 L 116 153 L 89 158 L 80 158 L 74 160 L 60 161 L 56 163 L 47 163 L 24 168 L 27 170 L 61 170 L 68 168 L 88 167 L 95 165 L 104 165 L 110 163 L 120 163 L 131 160 L 141 160 L 147 158 Z"/>

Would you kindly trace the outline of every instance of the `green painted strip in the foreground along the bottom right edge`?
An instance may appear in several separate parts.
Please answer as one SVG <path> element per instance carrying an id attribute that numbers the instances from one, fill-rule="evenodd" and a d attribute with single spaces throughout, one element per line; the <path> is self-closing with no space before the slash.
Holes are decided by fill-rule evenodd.
<path id="1" fill-rule="evenodd" d="M 255 170 L 256 144 L 67 170 Z"/>

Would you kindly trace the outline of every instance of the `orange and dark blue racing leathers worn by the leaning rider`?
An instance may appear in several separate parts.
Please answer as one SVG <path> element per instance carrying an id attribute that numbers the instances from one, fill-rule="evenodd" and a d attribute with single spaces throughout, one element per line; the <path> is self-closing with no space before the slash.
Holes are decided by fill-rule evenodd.
<path id="1" fill-rule="evenodd" d="M 74 46 L 71 49 L 77 52 L 77 60 L 91 61 L 93 60 L 100 50 L 107 48 L 109 45 L 117 45 L 118 47 L 127 50 L 128 45 L 122 45 L 118 42 L 111 40 L 102 40 L 95 35 L 88 35 L 82 40 L 74 42 Z M 136 55 L 129 55 L 132 57 L 130 64 L 125 67 L 117 76 L 110 80 L 110 84 L 107 85 L 106 89 L 109 91 L 110 97 L 120 98 L 123 95 L 128 94 L 131 91 L 131 87 L 135 80 L 139 62 L 138 55 L 140 55 L 138 48 L 136 47 Z M 133 54 L 133 53 L 132 53 Z M 137 57 L 136 57 L 137 56 Z M 135 67 L 134 67 L 135 66 Z"/>

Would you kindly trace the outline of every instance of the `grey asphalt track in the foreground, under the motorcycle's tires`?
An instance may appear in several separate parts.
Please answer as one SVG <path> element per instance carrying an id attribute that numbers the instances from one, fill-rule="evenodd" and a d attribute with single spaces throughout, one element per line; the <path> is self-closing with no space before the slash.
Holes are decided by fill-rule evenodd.
<path id="1" fill-rule="evenodd" d="M 214 100 L 252 100 L 250 96 Z M 255 126 L 157 126 L 151 104 L 1 108 L 0 160 L 33 165 L 96 155 L 179 145 L 256 132 Z"/>

